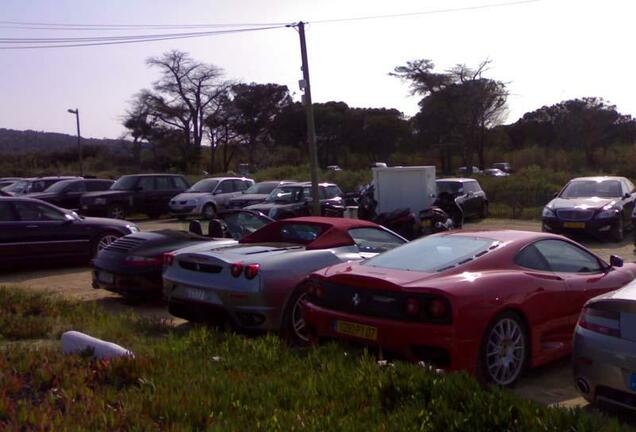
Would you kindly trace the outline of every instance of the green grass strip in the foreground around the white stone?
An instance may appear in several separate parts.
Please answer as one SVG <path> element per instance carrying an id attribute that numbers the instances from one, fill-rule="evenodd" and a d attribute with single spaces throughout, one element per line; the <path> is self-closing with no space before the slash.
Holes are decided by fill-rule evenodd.
<path id="1" fill-rule="evenodd" d="M 338 344 L 292 350 L 275 336 L 175 328 L 6 288 L 0 309 L 3 324 L 39 320 L 7 334 L 0 327 L 5 339 L 57 338 L 72 328 L 136 353 L 94 361 L 28 343 L 0 349 L 1 430 L 620 429 L 598 415 L 484 389 L 464 374 L 380 366 Z"/>

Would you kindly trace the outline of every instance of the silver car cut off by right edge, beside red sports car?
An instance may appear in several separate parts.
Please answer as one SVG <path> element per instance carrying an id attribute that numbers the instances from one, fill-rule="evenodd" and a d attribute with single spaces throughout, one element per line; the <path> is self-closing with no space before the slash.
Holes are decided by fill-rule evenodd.
<path id="1" fill-rule="evenodd" d="M 636 281 L 585 304 L 573 347 L 582 396 L 636 410 Z"/>

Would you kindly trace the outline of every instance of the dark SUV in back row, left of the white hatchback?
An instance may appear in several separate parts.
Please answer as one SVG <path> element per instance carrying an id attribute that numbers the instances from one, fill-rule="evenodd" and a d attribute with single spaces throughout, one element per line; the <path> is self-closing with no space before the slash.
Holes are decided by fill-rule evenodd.
<path id="1" fill-rule="evenodd" d="M 88 192 L 80 198 L 80 212 L 124 219 L 144 213 L 155 219 L 168 213 L 170 199 L 189 187 L 176 174 L 134 174 L 120 177 L 107 191 Z"/>

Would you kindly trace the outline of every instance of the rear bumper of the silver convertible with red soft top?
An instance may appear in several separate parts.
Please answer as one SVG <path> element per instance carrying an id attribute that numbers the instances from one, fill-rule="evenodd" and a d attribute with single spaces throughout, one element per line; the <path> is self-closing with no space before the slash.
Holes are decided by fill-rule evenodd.
<path id="1" fill-rule="evenodd" d="M 190 321 L 228 319 L 236 328 L 277 331 L 280 307 L 267 305 L 258 292 L 200 287 L 164 277 L 163 297 L 174 315 Z"/>

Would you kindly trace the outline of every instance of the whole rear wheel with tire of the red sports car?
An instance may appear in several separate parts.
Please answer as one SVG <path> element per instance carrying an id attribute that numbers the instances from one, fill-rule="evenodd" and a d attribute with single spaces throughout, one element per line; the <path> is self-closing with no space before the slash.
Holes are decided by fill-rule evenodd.
<path id="1" fill-rule="evenodd" d="M 498 315 L 482 337 L 477 378 L 484 384 L 512 386 L 526 368 L 529 347 L 528 332 L 519 315 L 512 311 Z"/>

